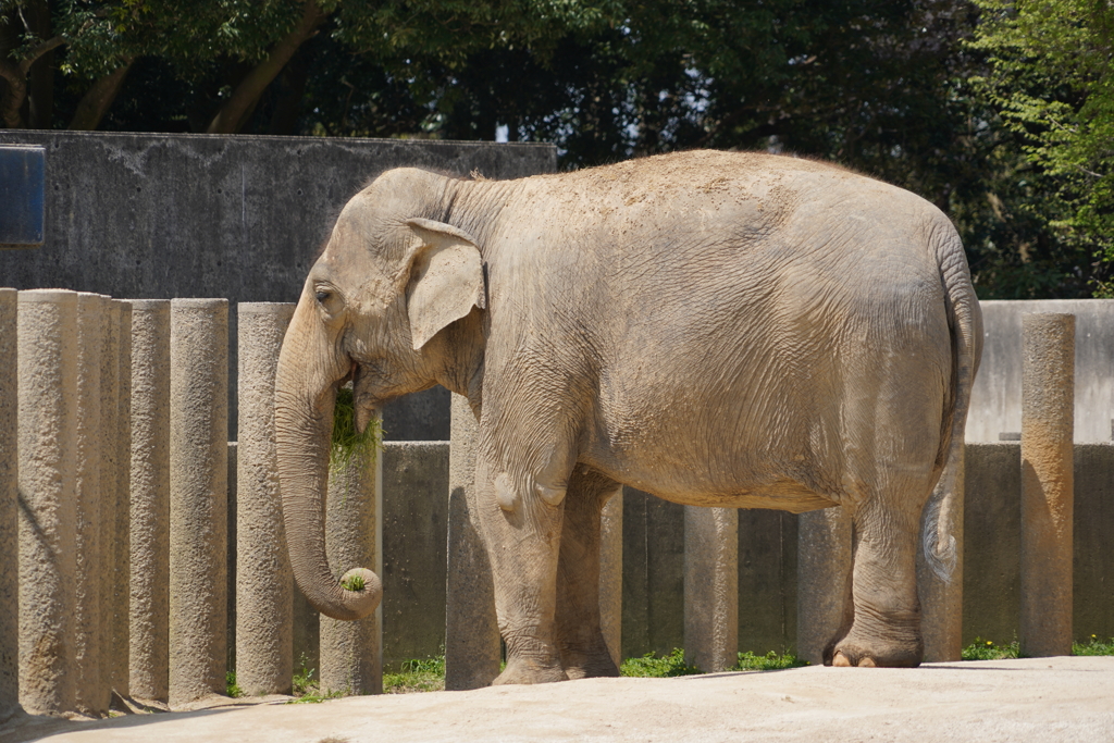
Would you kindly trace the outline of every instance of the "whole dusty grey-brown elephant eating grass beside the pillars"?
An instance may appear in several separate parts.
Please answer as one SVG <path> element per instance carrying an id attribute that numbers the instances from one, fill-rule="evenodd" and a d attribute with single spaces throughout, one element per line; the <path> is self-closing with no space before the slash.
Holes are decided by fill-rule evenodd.
<path id="1" fill-rule="evenodd" d="M 374 609 L 374 574 L 346 574 L 369 581 L 350 590 L 325 557 L 336 390 L 351 382 L 362 428 L 441 384 L 479 427 L 495 684 L 617 675 L 599 531 L 623 485 L 848 509 L 853 567 L 824 663 L 916 666 L 922 512 L 952 487 L 981 322 L 948 218 L 836 165 L 695 150 L 512 180 L 387 170 L 336 217 L 278 359 L 295 578 L 325 615 Z M 944 575 L 949 538 L 926 537 Z"/>

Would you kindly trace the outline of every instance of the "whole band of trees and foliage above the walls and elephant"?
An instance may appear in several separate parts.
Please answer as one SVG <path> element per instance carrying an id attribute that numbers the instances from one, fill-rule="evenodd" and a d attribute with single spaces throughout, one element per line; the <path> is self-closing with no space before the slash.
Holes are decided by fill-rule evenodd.
<path id="1" fill-rule="evenodd" d="M 831 159 L 983 299 L 1114 296 L 1110 0 L 0 0 L 0 125 Z"/>

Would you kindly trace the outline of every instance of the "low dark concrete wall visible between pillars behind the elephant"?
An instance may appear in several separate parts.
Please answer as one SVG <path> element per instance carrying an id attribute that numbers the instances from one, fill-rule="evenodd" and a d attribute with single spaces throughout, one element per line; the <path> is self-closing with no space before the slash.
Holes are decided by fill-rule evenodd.
<path id="1" fill-rule="evenodd" d="M 440 460 L 443 459 L 444 463 Z M 384 453 L 388 665 L 440 652 L 444 637 L 446 442 L 389 442 Z M 967 446 L 962 643 L 1017 636 L 1020 444 Z M 1074 635 L 1114 636 L 1114 446 L 1075 448 Z M 431 495 L 432 493 L 432 495 Z M 624 489 L 623 656 L 684 645 L 684 508 Z M 739 648 L 797 643 L 798 517 L 739 511 Z"/>

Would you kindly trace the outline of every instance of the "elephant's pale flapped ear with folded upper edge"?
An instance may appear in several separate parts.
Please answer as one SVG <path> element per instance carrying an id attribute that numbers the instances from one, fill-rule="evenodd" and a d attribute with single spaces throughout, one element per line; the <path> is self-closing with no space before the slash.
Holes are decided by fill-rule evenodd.
<path id="1" fill-rule="evenodd" d="M 462 229 L 432 219 L 409 219 L 407 225 L 418 241 L 407 286 L 410 336 L 418 351 L 473 306 L 487 305 L 483 264 L 476 241 Z"/>

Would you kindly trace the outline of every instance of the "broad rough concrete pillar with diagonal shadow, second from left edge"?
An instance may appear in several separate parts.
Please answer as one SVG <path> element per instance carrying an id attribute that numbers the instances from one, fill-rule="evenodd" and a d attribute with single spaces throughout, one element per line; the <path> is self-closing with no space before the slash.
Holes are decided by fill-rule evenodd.
<path id="1" fill-rule="evenodd" d="M 19 293 L 19 698 L 75 708 L 77 293 Z"/>

